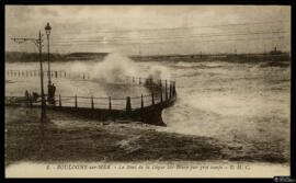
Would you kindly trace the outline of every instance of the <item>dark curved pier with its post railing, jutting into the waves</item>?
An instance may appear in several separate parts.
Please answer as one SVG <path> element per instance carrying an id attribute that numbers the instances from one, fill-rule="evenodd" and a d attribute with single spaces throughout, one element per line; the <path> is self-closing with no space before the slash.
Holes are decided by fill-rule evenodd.
<path id="1" fill-rule="evenodd" d="M 7 77 L 39 77 L 38 71 L 34 73 L 32 70 L 7 70 L 5 73 Z M 68 76 L 68 78 L 91 79 L 86 73 L 75 75 L 66 71 L 52 71 L 52 75 L 57 78 L 67 78 Z M 128 81 L 129 83 L 124 84 L 145 87 L 150 93 L 123 98 L 65 96 L 59 94 L 55 96 L 55 104 L 47 104 L 46 108 L 99 121 L 127 119 L 166 126 L 161 118 L 161 112 L 163 108 L 173 105 L 177 100 L 175 81 L 136 77 L 129 77 Z M 32 102 L 25 96 L 5 96 L 5 105 L 41 107 L 41 98 Z"/>

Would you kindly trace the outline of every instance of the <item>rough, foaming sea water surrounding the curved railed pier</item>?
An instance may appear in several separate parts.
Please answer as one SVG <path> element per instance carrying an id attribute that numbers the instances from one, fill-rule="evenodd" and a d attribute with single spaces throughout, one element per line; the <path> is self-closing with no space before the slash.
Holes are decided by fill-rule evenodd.
<path id="1" fill-rule="evenodd" d="M 71 64 L 65 65 L 54 62 L 52 69 L 77 71 L 70 67 Z M 75 68 L 88 71 L 95 65 L 95 61 L 89 61 L 83 67 L 77 65 Z M 15 70 L 37 69 L 38 65 L 20 62 L 7 64 L 5 67 Z M 45 150 L 39 153 L 36 142 L 39 139 L 36 133 L 39 125 L 34 123 L 34 119 L 38 121 L 38 112 L 7 107 L 5 146 L 9 163 L 20 160 L 289 161 L 289 62 L 240 64 L 193 59 L 190 62 L 140 61 L 133 62 L 132 67 L 135 71 L 117 70 L 116 73 L 139 77 L 153 75 L 177 81 L 178 101 L 162 112 L 167 127 L 137 122 L 86 122 L 83 118 L 49 112 L 52 123 L 45 125 Z M 110 73 L 114 73 L 110 70 Z M 107 75 L 105 71 L 104 76 Z M 5 80 L 7 95 L 23 94 L 26 88 L 39 90 L 37 79 Z M 113 89 L 102 87 L 101 80 L 54 79 L 54 82 L 57 93 L 69 95 L 107 96 Z M 130 92 L 139 95 L 147 91 L 118 89 L 114 95 L 121 92 L 124 95 Z M 27 115 L 33 113 L 35 117 Z"/>

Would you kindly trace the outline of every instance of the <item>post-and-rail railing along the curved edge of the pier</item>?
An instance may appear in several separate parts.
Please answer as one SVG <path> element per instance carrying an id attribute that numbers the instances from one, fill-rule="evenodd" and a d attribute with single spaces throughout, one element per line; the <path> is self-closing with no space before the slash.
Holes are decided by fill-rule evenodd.
<path id="1" fill-rule="evenodd" d="M 37 75 L 36 75 L 37 72 Z M 38 70 L 5 70 L 5 73 L 9 76 L 14 76 L 14 77 L 39 77 L 39 71 Z M 34 73 L 34 75 L 32 75 Z M 44 73 L 48 73 L 48 71 L 44 71 Z M 66 72 L 65 70 L 52 70 L 50 75 L 56 75 L 56 77 L 58 76 L 61 78 L 67 78 L 69 76 L 83 76 L 83 79 L 86 78 L 90 78 L 89 73 L 83 73 L 83 72 L 79 72 L 79 73 L 72 73 L 72 72 Z M 147 87 L 148 89 L 151 90 L 152 93 L 150 94 L 145 94 L 145 95 L 138 95 L 138 96 L 128 96 L 129 98 L 129 103 L 132 104 L 132 108 L 134 105 L 140 105 L 140 106 L 150 106 L 157 103 L 161 103 L 161 102 L 166 102 L 168 100 L 170 100 L 171 98 L 175 96 L 175 81 L 173 80 L 162 80 L 162 79 L 152 79 L 152 78 L 140 78 L 140 77 L 132 77 L 132 76 L 126 76 L 125 77 L 125 84 L 127 83 L 132 83 L 132 85 L 144 85 Z M 155 89 L 159 89 L 153 91 Z M 8 96 L 8 98 L 24 98 L 24 96 Z M 83 99 L 83 101 L 81 101 L 80 99 Z M 147 99 L 149 99 L 149 101 L 147 101 Z M 84 101 L 84 100 L 89 100 L 89 102 Z M 105 103 L 103 102 L 95 102 L 95 101 L 105 101 Z M 116 101 L 121 101 L 121 103 L 116 103 Z M 127 96 L 124 98 L 111 98 L 111 96 L 77 96 L 77 95 L 72 95 L 72 96 L 68 96 L 68 95 L 59 95 L 57 100 L 55 100 L 55 102 L 57 103 L 57 105 L 62 105 L 62 103 L 71 103 L 73 106 L 79 107 L 79 104 L 89 104 L 92 107 L 95 107 L 95 105 L 109 105 L 111 108 L 112 106 L 125 106 L 126 103 L 125 101 L 127 101 Z M 93 106 L 94 105 L 94 106 Z M 124 108 L 124 107 L 123 107 Z"/>

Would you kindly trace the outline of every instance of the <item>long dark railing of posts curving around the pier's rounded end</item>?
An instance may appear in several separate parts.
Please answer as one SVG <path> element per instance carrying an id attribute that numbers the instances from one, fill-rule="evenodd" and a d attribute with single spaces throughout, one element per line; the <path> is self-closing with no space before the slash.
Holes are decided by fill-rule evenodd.
<path id="1" fill-rule="evenodd" d="M 38 77 L 39 71 L 37 70 L 7 70 L 7 76 L 9 77 Z M 46 75 L 48 72 L 44 72 Z M 56 77 L 73 77 L 75 73 L 66 72 L 66 71 L 52 71 L 52 75 Z M 90 79 L 89 73 L 77 75 L 82 76 L 82 79 Z M 76 108 L 105 108 L 105 110 L 127 110 L 134 111 L 138 108 L 143 108 L 146 106 L 153 106 L 157 104 L 162 104 L 171 99 L 175 99 L 175 81 L 170 80 L 160 80 L 160 79 L 152 79 L 152 78 L 139 78 L 139 77 L 126 77 L 125 84 L 135 84 L 135 85 L 143 85 L 149 89 L 149 94 L 141 94 L 139 96 L 124 96 L 124 98 L 99 98 L 99 96 L 78 96 L 78 95 L 56 95 L 55 96 L 55 104 L 56 107 L 76 107 Z M 14 99 L 19 99 L 15 101 Z M 7 96 L 5 103 L 18 103 L 20 99 L 24 99 L 24 96 Z M 30 101 L 30 100 L 29 100 Z M 23 101 L 21 100 L 21 103 Z M 35 101 L 30 103 L 30 105 L 41 105 L 39 101 Z"/>

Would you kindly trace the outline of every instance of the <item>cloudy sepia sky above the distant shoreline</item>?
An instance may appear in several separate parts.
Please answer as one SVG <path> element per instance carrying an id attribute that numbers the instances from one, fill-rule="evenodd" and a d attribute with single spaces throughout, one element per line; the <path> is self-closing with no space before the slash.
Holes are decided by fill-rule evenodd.
<path id="1" fill-rule="evenodd" d="M 5 50 L 37 52 L 49 22 L 53 53 L 126 55 L 291 50 L 287 5 L 5 5 Z M 44 49 L 47 50 L 46 35 Z"/>

